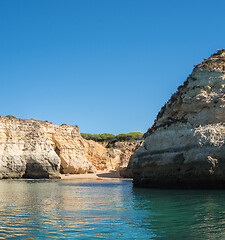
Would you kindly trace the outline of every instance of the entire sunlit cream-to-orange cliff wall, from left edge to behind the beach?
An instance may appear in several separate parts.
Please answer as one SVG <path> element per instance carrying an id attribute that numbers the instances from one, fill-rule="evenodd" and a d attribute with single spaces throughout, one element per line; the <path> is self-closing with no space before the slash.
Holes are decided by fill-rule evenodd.
<path id="1" fill-rule="evenodd" d="M 83 139 L 78 126 L 0 117 L 0 178 L 59 178 L 127 166 L 138 143 L 105 148 Z"/>

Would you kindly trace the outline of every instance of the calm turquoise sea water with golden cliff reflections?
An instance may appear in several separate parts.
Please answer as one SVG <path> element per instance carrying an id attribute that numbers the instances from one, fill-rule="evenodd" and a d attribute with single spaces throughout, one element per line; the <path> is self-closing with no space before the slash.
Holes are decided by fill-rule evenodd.
<path id="1" fill-rule="evenodd" d="M 1 180 L 0 239 L 225 239 L 225 191 Z"/>

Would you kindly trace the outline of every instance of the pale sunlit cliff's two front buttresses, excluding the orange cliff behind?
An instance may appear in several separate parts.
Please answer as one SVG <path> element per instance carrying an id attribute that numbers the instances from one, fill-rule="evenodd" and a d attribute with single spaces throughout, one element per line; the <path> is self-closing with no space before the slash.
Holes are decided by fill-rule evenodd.
<path id="1" fill-rule="evenodd" d="M 0 117 L 0 178 L 59 178 L 60 171 L 95 170 L 77 126 Z"/>

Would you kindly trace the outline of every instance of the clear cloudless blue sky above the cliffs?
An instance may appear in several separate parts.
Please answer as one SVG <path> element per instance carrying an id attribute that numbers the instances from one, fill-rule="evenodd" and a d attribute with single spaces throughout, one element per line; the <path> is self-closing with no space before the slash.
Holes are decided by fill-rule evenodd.
<path id="1" fill-rule="evenodd" d="M 0 115 L 145 132 L 225 48 L 225 1 L 1 0 Z"/>

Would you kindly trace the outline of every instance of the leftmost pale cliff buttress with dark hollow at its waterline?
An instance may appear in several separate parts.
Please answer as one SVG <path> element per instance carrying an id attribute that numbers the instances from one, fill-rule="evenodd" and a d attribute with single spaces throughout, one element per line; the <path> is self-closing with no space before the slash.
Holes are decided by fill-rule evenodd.
<path id="1" fill-rule="evenodd" d="M 0 118 L 0 178 L 58 178 L 59 165 L 37 122 Z"/>

